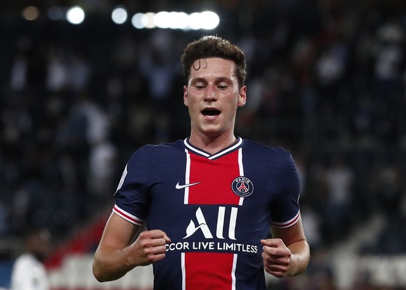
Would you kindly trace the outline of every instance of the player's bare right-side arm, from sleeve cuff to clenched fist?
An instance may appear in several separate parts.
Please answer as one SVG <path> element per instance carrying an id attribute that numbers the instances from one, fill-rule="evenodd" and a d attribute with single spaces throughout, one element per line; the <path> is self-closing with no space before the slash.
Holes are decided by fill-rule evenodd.
<path id="1" fill-rule="evenodd" d="M 292 227 L 271 227 L 273 238 L 262 240 L 262 258 L 266 272 L 275 277 L 299 275 L 308 266 L 310 249 L 301 219 Z"/>

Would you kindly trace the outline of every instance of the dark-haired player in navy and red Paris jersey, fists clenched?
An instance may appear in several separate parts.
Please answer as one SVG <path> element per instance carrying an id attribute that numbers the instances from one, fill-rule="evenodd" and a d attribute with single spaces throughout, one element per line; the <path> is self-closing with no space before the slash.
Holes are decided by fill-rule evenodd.
<path id="1" fill-rule="evenodd" d="M 153 264 L 154 289 L 199 290 L 266 289 L 264 270 L 302 273 L 310 251 L 294 160 L 234 135 L 247 99 L 243 52 L 203 36 L 181 62 L 190 137 L 142 146 L 128 160 L 93 274 L 116 280 Z"/>

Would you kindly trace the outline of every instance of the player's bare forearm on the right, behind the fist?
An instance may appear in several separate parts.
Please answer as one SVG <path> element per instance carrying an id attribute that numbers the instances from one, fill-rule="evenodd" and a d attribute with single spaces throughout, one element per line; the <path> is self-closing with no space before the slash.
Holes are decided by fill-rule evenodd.
<path id="1" fill-rule="evenodd" d="M 306 270 L 310 259 L 310 249 L 306 240 L 287 246 L 291 252 L 287 276 L 295 276 Z"/>

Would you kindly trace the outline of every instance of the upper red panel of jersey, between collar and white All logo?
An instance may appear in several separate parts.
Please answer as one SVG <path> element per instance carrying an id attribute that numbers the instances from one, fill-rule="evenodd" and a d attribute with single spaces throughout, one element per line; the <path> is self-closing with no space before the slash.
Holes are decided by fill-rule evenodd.
<path id="1" fill-rule="evenodd" d="M 239 151 L 209 160 L 190 154 L 190 183 L 188 204 L 239 204 L 240 197 L 232 191 L 232 181 L 239 177 Z"/>

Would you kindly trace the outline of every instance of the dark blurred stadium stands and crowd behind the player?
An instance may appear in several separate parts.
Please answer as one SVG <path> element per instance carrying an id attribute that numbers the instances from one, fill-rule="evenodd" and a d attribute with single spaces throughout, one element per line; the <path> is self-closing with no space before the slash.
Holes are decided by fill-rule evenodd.
<path id="1" fill-rule="evenodd" d="M 0 287 L 36 224 L 52 289 L 151 289 L 150 267 L 96 282 L 93 251 L 133 151 L 188 135 L 179 58 L 218 34 L 248 58 L 238 134 L 301 174 L 312 259 L 269 288 L 406 289 L 405 33 L 403 0 L 1 1 Z"/>

